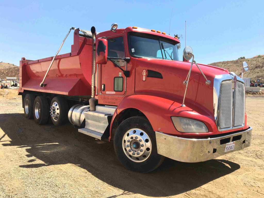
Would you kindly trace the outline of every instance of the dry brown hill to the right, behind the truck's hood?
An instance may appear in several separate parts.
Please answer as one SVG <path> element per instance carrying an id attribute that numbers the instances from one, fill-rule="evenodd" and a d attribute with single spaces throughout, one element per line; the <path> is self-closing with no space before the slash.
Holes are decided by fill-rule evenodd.
<path id="1" fill-rule="evenodd" d="M 264 57 L 253 57 L 238 60 L 229 60 L 216 63 L 210 63 L 216 67 L 227 69 L 229 72 L 234 72 L 237 76 L 241 77 L 242 64 L 246 61 L 248 64 L 248 72 L 243 72 L 243 78 L 251 78 L 256 81 L 258 78 L 264 78 Z"/>

